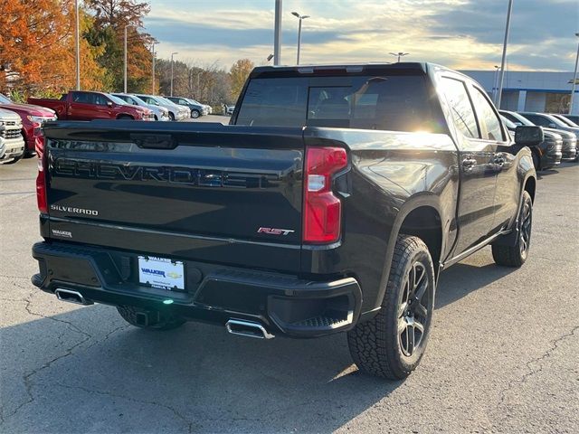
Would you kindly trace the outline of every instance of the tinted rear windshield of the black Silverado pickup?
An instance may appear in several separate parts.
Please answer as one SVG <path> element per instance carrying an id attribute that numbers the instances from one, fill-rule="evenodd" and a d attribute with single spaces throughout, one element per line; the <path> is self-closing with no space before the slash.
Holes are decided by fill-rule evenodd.
<path id="1" fill-rule="evenodd" d="M 319 86 L 324 81 L 321 77 L 253 79 L 243 96 L 236 124 L 394 131 L 437 129 L 422 76 L 352 76 L 331 80 L 345 84 Z"/>

